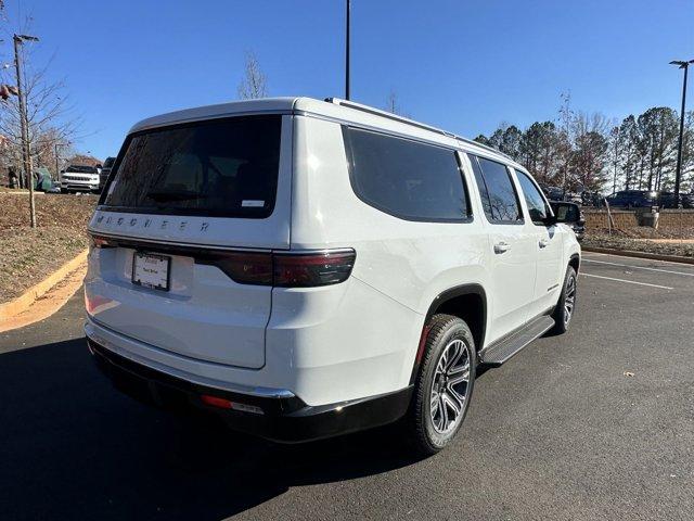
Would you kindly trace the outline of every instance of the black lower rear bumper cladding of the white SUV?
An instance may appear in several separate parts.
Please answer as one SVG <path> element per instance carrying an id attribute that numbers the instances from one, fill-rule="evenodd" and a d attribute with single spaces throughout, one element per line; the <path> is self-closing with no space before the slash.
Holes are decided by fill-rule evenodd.
<path id="1" fill-rule="evenodd" d="M 412 396 L 409 386 L 370 398 L 313 407 L 298 397 L 252 396 L 198 385 L 87 341 L 98 367 L 115 387 L 139 402 L 175 412 L 205 410 L 221 417 L 233 430 L 277 442 L 308 442 L 391 423 L 404 416 Z M 259 407 L 262 414 L 209 406 L 202 401 L 202 395 Z"/>

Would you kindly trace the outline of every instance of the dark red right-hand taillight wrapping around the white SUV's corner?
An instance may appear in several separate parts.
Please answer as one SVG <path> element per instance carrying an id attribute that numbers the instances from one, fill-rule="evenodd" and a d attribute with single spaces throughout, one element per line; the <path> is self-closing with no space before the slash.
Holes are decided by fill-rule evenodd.
<path id="1" fill-rule="evenodd" d="M 219 267 L 242 284 L 312 288 L 347 280 L 356 255 L 354 250 L 295 254 L 230 252 L 198 262 Z"/>

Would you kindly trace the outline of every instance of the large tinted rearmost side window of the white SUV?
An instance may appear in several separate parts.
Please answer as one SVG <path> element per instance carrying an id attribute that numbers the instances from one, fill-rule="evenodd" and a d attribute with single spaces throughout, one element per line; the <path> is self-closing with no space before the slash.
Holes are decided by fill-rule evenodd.
<path id="1" fill-rule="evenodd" d="M 470 220 L 470 201 L 453 150 L 343 127 L 350 180 L 367 204 L 409 220 Z"/>

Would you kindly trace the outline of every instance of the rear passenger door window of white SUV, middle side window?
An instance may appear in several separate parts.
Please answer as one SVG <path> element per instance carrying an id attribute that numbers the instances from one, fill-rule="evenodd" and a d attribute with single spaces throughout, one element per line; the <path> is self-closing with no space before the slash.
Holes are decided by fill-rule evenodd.
<path id="1" fill-rule="evenodd" d="M 502 163 L 476 155 L 470 155 L 470 161 L 487 219 L 496 224 L 523 223 L 518 194 L 509 168 Z"/>

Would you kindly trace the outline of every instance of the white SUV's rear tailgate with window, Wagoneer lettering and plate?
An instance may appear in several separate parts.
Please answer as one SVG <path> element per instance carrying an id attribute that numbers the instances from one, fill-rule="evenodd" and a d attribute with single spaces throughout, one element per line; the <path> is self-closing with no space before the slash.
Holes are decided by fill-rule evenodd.
<path id="1" fill-rule="evenodd" d="M 272 289 L 209 255 L 290 247 L 291 131 L 291 116 L 262 115 L 129 137 L 90 223 L 104 246 L 90 255 L 90 316 L 183 356 L 262 367 Z"/>

